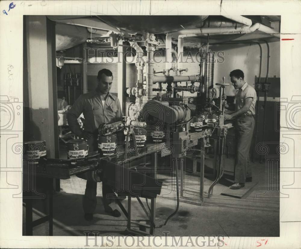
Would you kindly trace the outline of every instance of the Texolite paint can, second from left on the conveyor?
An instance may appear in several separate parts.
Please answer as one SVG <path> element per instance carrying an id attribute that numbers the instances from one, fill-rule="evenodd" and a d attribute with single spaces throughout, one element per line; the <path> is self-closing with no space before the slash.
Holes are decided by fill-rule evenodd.
<path id="1" fill-rule="evenodd" d="M 88 145 L 85 139 L 69 140 L 67 146 L 67 158 L 72 159 L 71 164 L 76 164 L 85 160 L 88 155 Z"/>

